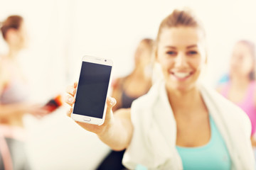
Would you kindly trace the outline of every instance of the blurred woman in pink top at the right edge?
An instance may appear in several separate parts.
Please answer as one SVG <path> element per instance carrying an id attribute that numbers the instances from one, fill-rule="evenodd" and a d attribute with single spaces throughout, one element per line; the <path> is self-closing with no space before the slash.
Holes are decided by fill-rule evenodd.
<path id="1" fill-rule="evenodd" d="M 251 141 L 256 147 L 255 44 L 240 40 L 233 47 L 229 79 L 218 87 L 220 94 L 247 113 L 252 124 Z"/>

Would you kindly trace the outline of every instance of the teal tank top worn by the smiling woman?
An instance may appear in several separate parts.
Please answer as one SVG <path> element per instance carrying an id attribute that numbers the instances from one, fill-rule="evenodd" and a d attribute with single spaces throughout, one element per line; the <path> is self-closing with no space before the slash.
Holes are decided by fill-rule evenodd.
<path id="1" fill-rule="evenodd" d="M 178 147 L 183 169 L 231 169 L 231 159 L 223 137 L 210 117 L 210 142 L 202 147 Z"/>

